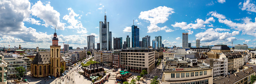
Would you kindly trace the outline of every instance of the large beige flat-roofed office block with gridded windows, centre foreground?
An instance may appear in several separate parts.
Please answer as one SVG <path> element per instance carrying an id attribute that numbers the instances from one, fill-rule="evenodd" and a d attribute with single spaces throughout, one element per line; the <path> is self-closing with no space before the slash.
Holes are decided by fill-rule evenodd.
<path id="1" fill-rule="evenodd" d="M 121 51 L 121 69 L 150 73 L 155 67 L 155 51 L 149 48 L 127 48 Z"/>

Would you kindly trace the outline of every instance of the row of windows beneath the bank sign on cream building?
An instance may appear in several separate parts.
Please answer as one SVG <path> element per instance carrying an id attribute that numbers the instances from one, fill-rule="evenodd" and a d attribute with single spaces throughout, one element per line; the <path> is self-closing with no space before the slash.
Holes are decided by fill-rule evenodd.
<path id="1" fill-rule="evenodd" d="M 186 73 L 176 73 L 176 78 L 184 78 L 185 74 L 186 77 L 194 77 L 194 76 L 203 76 L 203 75 L 207 75 L 207 71 L 196 71 L 196 72 L 186 72 Z M 189 75 L 190 74 L 190 75 Z M 171 73 L 171 78 L 175 78 L 175 73 Z"/>

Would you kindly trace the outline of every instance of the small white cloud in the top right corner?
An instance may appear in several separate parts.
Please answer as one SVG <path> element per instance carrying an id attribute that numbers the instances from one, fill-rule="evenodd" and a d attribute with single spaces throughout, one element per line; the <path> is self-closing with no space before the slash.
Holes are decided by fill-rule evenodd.
<path id="1" fill-rule="evenodd" d="M 242 10 L 246 10 L 248 12 L 256 12 L 256 6 L 254 3 L 250 3 L 250 0 L 246 0 L 244 1 L 244 3 L 242 4 L 242 2 L 240 2 L 238 4 L 238 6 L 240 6 L 239 8 Z"/>

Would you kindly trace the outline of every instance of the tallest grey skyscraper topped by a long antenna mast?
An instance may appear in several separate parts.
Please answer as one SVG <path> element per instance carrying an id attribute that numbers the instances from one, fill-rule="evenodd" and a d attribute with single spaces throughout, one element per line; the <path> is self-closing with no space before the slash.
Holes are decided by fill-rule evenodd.
<path id="1" fill-rule="evenodd" d="M 104 17 L 105 17 L 104 22 L 100 21 L 100 50 L 110 50 L 109 22 L 107 22 L 106 13 Z"/>

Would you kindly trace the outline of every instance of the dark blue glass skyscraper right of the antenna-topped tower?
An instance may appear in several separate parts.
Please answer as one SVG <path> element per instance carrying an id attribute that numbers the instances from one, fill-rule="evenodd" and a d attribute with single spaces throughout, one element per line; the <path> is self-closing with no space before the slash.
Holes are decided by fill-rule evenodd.
<path id="1" fill-rule="evenodd" d="M 140 47 L 140 28 L 132 25 L 132 47 Z"/>

